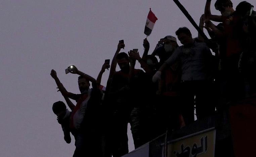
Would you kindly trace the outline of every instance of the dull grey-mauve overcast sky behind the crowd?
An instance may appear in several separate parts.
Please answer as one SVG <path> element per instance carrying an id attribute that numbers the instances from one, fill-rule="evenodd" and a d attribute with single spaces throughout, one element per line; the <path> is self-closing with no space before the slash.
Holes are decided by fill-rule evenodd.
<path id="1" fill-rule="evenodd" d="M 180 2 L 198 23 L 206 0 Z M 240 1 L 232 2 L 237 6 Z M 172 0 L 0 0 L 0 156 L 71 157 L 74 138 L 65 143 L 51 109 L 53 102 L 64 101 L 51 69 L 69 92 L 79 93 L 78 75 L 65 74 L 69 65 L 96 78 L 121 39 L 125 52 L 138 48 L 142 55 L 149 8 L 158 17 L 147 38 L 150 53 L 160 38 L 175 36 L 179 27 L 197 36 Z M 211 9 L 219 14 L 214 5 Z M 106 70 L 102 85 L 108 75 Z M 132 151 L 130 130 L 128 135 Z"/>

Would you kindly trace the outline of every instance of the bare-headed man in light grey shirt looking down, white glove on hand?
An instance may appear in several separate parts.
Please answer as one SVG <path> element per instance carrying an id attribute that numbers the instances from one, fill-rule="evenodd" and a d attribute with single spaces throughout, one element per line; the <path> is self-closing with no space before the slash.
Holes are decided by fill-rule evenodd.
<path id="1" fill-rule="evenodd" d="M 205 43 L 196 43 L 186 27 L 179 28 L 177 35 L 182 46 L 178 47 L 153 76 L 153 81 L 161 78 L 161 72 L 176 61 L 181 61 L 181 97 L 182 116 L 185 124 L 194 119 L 194 102 L 196 102 L 197 118 L 201 119 L 212 112 L 215 107 L 211 104 L 209 84 L 211 81 L 209 66 L 212 54 Z M 196 98 L 195 98 L 196 97 Z"/>

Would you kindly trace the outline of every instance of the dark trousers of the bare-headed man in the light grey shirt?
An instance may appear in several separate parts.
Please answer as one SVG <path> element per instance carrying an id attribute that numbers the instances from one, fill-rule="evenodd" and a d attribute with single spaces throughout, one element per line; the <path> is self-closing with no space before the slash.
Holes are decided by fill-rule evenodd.
<path id="1" fill-rule="evenodd" d="M 186 125 L 193 123 L 195 120 L 195 105 L 197 119 L 207 117 L 215 111 L 211 82 L 182 81 L 181 98 L 181 113 Z"/>

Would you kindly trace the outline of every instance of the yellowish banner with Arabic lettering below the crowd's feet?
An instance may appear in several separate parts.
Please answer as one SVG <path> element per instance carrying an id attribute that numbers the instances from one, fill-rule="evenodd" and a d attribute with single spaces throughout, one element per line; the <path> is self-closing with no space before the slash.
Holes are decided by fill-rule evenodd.
<path id="1" fill-rule="evenodd" d="M 206 129 L 167 143 L 168 157 L 214 157 L 216 130 Z M 164 157 L 164 148 L 162 149 Z"/>

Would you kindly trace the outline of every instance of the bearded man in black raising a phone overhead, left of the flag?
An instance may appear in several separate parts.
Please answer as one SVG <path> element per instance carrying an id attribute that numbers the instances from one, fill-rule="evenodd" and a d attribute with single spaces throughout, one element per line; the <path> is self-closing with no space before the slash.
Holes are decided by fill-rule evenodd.
<path id="1" fill-rule="evenodd" d="M 119 45 L 121 45 L 119 43 Z M 118 46 L 119 48 L 119 46 Z M 119 49 L 120 51 L 120 49 Z M 130 113 L 133 108 L 130 102 L 130 77 L 136 77 L 142 70 L 134 69 L 134 72 L 129 77 L 130 59 L 125 52 L 115 54 L 111 71 L 115 71 L 117 63 L 120 71 L 115 72 L 110 76 L 110 85 L 108 89 L 107 102 L 112 108 L 112 155 L 113 157 L 120 157 L 128 153 L 128 137 L 127 137 L 127 124 L 130 121 Z M 114 64 L 113 64 L 114 63 Z M 110 72 L 111 72 L 110 71 Z"/>

